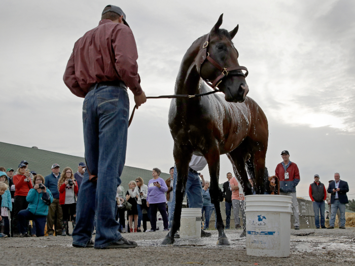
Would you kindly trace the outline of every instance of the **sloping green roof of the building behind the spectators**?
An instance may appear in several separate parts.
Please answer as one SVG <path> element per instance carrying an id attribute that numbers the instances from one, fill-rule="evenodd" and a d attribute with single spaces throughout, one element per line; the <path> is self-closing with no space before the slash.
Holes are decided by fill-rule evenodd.
<path id="1" fill-rule="evenodd" d="M 43 176 L 51 173 L 51 167 L 55 163 L 59 164 L 61 169 L 70 167 L 76 172 L 78 170 L 78 164 L 85 162 L 83 157 L 0 142 L 0 166 L 6 169 L 11 167 L 16 172 L 22 160 L 28 162 L 28 169 L 30 171 L 35 171 L 37 174 Z M 124 166 L 121 175 L 123 187 L 127 190 L 129 181 L 135 180 L 138 176 L 143 178 L 145 184 L 148 184 L 148 181 L 152 179 L 152 170 Z M 170 175 L 167 173 L 160 174 L 160 177 L 164 180 L 169 176 Z"/>

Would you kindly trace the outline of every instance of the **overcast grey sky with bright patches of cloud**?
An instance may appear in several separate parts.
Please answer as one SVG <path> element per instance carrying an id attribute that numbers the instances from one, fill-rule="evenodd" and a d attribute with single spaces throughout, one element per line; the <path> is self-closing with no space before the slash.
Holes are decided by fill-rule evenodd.
<path id="1" fill-rule="evenodd" d="M 313 175 L 339 172 L 355 198 L 355 2 L 344 1 L 8 1 L 0 8 L 0 141 L 83 156 L 83 99 L 62 81 L 74 43 L 97 26 L 103 8 L 120 6 L 137 43 L 147 96 L 172 94 L 190 45 L 224 13 L 239 24 L 234 44 L 246 66 L 248 93 L 269 123 L 266 166 L 274 174 L 290 151 L 301 174 L 298 196 Z M 133 94 L 129 93 L 131 109 Z M 126 165 L 173 166 L 167 124 L 170 100 L 150 99 L 128 130 Z M 30 161 L 30 158 L 26 158 Z M 220 183 L 232 172 L 221 156 Z M 202 171 L 209 179 L 207 167 Z M 352 195 L 350 195 L 352 194 Z"/>

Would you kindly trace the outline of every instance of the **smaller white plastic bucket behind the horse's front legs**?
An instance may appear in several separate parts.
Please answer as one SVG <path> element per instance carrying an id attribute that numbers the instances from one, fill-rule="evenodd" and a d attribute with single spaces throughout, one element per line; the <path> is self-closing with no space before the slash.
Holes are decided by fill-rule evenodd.
<path id="1" fill-rule="evenodd" d="M 201 237 L 201 208 L 182 208 L 180 238 Z"/>

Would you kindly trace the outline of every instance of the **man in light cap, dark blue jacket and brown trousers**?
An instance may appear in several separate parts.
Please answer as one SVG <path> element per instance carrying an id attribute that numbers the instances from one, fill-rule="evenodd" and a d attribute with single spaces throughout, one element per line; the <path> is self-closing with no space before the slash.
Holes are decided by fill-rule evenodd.
<path id="1" fill-rule="evenodd" d="M 47 215 L 47 233 L 48 236 L 53 236 L 54 230 L 53 225 L 55 223 L 55 213 L 57 213 L 57 221 L 56 221 L 56 236 L 61 236 L 62 234 L 62 218 L 63 211 L 62 207 L 59 204 L 59 191 L 58 191 L 58 180 L 60 178 L 59 173 L 59 165 L 52 165 L 52 173 L 45 177 L 45 186 L 49 188 L 53 195 L 53 202 L 48 208 Z"/>

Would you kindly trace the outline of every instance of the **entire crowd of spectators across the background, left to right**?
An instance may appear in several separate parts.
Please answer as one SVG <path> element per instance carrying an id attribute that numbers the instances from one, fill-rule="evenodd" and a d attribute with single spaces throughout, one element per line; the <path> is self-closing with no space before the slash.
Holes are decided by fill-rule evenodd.
<path id="1" fill-rule="evenodd" d="M 276 175 L 269 176 L 265 170 L 265 194 L 287 195 L 294 194 L 299 182 L 299 170 L 297 165 L 288 160 L 288 151 L 282 151 L 283 162 L 275 170 Z M 293 165 L 292 165 L 293 164 Z M 291 170 L 288 166 L 291 166 Z M 16 172 L 12 168 L 0 167 L 0 238 L 6 237 L 41 237 L 71 236 L 68 222 L 72 221 L 73 229 L 76 226 L 76 203 L 83 180 L 86 165 L 80 163 L 76 173 L 69 167 L 65 167 L 60 173 L 60 166 L 53 164 L 52 172 L 43 177 L 35 171 L 29 171 L 28 163 L 21 161 Z M 282 172 L 282 173 L 280 173 Z M 288 173 L 287 177 L 286 172 Z M 121 184 L 117 187 L 117 215 L 119 231 L 121 233 L 139 233 L 141 223 L 143 232 L 155 232 L 157 230 L 168 231 L 171 216 L 171 200 L 173 198 L 174 167 L 169 170 L 170 176 L 166 180 L 160 177 L 161 170 L 152 170 L 152 179 L 148 185 L 144 184 L 141 177 L 128 183 L 125 191 Z M 290 174 L 291 173 L 291 174 Z M 200 173 L 198 173 L 200 174 Z M 176 175 L 175 175 L 176 176 Z M 201 175 L 202 186 L 202 229 L 209 227 L 210 216 L 215 209 L 209 195 L 209 181 L 204 181 Z M 231 209 L 233 208 L 235 229 L 241 228 L 239 213 L 243 217 L 243 229 L 245 231 L 245 198 L 239 181 L 227 173 L 227 179 L 223 184 L 223 192 L 220 201 L 225 201 L 226 229 L 230 229 Z M 290 180 L 291 179 L 291 180 Z M 297 182 L 294 180 L 297 179 Z M 253 179 L 249 179 L 254 189 Z M 329 181 L 328 189 L 319 182 L 319 175 L 314 175 L 314 182 L 310 184 L 309 195 L 313 202 L 315 213 L 315 225 L 317 228 L 325 228 L 324 205 L 327 201 L 331 214 L 330 229 L 334 228 L 336 214 L 340 222 L 340 228 L 345 228 L 344 202 L 346 202 L 348 186 L 340 180 L 340 175 L 335 174 L 335 180 Z M 293 195 L 290 195 L 293 196 Z M 188 203 L 187 203 L 188 205 Z M 293 203 L 294 205 L 294 203 Z M 336 209 L 331 206 L 336 206 Z M 333 210 L 332 210 L 333 209 Z M 295 229 L 299 228 L 297 203 L 293 206 L 295 216 Z M 157 212 L 161 219 L 157 224 Z M 319 219 L 319 211 L 321 219 Z M 127 224 L 126 224 L 127 221 Z M 151 229 L 147 228 L 147 221 Z M 171 220 L 170 220 L 171 223 Z M 216 226 L 216 225 L 215 225 Z M 47 230 L 46 230 L 47 227 Z M 160 227 L 160 228 L 159 228 Z"/>

